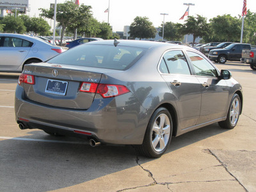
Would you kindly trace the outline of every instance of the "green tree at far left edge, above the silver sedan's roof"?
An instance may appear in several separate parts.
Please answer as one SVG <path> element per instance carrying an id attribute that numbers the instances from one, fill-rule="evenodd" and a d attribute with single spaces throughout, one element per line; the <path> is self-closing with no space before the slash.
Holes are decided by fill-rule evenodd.
<path id="1" fill-rule="evenodd" d="M 1 22 L 1 24 L 4 24 L 3 31 L 6 33 L 24 33 L 26 31 L 24 22 L 19 17 L 15 18 L 15 16 L 8 15 Z"/>

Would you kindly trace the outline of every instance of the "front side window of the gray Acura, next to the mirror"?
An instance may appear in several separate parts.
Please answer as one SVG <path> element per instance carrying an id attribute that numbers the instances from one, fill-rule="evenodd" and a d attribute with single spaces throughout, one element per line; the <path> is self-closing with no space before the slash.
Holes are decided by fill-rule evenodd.
<path id="1" fill-rule="evenodd" d="M 189 59 L 193 65 L 196 76 L 207 76 L 207 77 L 217 77 L 218 73 L 216 68 L 214 68 L 209 61 L 205 60 L 200 54 L 196 52 L 188 51 Z"/>

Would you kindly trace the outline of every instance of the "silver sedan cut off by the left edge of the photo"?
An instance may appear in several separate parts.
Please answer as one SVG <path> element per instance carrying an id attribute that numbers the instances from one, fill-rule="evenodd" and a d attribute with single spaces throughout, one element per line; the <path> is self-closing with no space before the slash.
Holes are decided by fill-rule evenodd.
<path id="1" fill-rule="evenodd" d="M 0 71 L 22 72 L 25 64 L 49 60 L 60 54 L 60 47 L 44 40 L 19 34 L 0 34 Z"/>

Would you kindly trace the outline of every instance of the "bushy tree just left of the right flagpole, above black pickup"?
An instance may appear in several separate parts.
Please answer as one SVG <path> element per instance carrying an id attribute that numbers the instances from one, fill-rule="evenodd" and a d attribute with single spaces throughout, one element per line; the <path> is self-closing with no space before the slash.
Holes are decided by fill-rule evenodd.
<path id="1" fill-rule="evenodd" d="M 216 42 L 240 42 L 241 25 L 241 19 L 218 15 L 210 19 L 210 38 Z"/>

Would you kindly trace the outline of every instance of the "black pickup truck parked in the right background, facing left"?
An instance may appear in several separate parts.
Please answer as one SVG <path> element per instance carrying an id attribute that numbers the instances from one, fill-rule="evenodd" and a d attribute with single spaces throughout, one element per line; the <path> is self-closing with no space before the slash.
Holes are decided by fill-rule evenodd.
<path id="1" fill-rule="evenodd" d="M 243 49 L 251 49 L 250 44 L 230 44 L 223 49 L 212 49 L 209 52 L 208 58 L 219 63 L 226 63 L 226 61 L 240 61 Z"/>

